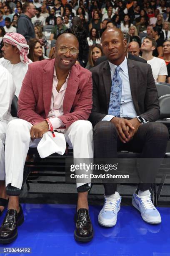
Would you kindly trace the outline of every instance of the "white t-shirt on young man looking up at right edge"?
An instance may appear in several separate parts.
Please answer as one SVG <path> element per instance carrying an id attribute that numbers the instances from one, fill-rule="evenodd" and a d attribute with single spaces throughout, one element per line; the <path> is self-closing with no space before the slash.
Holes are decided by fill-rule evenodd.
<path id="1" fill-rule="evenodd" d="M 148 64 L 150 64 L 153 72 L 153 78 L 155 79 L 155 82 L 158 81 L 158 76 L 167 76 L 167 67 L 166 63 L 163 59 L 153 57 L 153 59 L 150 59 L 147 61 Z"/>

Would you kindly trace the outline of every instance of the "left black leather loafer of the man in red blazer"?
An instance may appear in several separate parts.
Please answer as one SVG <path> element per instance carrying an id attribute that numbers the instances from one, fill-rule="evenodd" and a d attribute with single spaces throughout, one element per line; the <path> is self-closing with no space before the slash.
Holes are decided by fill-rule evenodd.
<path id="1" fill-rule="evenodd" d="M 20 211 L 10 209 L 7 211 L 5 219 L 0 227 L 0 243 L 11 243 L 17 236 L 17 226 L 20 226 L 24 222 L 23 210 L 20 205 Z"/>

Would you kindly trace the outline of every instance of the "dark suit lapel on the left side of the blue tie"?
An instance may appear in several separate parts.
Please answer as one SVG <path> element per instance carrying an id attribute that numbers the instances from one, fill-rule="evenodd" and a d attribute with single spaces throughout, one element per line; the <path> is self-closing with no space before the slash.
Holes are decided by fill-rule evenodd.
<path id="1" fill-rule="evenodd" d="M 103 67 L 103 82 L 104 82 L 107 112 L 108 112 L 109 101 L 110 101 L 110 91 L 112 86 L 111 72 L 110 72 L 110 66 L 108 61 L 105 62 L 105 65 Z"/>

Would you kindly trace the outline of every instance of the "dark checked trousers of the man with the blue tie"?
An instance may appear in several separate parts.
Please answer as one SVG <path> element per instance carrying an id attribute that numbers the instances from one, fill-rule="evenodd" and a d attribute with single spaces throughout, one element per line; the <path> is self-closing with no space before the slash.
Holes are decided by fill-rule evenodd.
<path id="1" fill-rule="evenodd" d="M 169 139 L 168 129 L 162 123 L 149 122 L 141 125 L 133 139 L 128 143 L 122 143 L 117 136 L 117 129 L 112 122 L 101 121 L 97 123 L 93 130 L 95 158 L 117 158 L 117 151 L 128 150 L 141 153 L 141 158 L 155 158 L 150 161 L 149 166 L 140 166 L 139 174 L 142 170 L 142 176 L 146 180 L 151 180 L 156 176 L 161 160 L 166 153 L 166 147 Z M 156 160 L 156 158 L 158 158 Z M 152 170 L 152 172 L 151 172 Z M 138 189 L 145 191 L 151 184 L 140 183 Z M 104 184 L 105 195 L 112 195 L 116 191 L 116 184 Z"/>

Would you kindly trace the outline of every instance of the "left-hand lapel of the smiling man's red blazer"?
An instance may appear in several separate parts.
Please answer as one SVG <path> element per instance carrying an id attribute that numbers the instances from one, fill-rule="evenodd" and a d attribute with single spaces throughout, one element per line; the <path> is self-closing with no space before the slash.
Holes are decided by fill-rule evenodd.
<path id="1" fill-rule="evenodd" d="M 42 95 L 43 95 L 46 117 L 50 111 L 54 65 L 55 65 L 55 59 L 47 62 L 47 64 L 43 68 L 44 72 L 42 74 Z"/>

